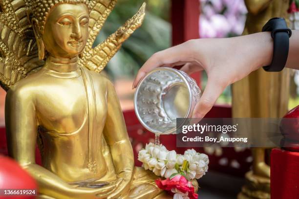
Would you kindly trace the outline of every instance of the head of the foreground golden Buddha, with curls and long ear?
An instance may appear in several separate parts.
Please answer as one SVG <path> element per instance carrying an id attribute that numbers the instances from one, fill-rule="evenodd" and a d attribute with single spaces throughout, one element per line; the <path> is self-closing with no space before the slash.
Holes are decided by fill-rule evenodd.
<path id="1" fill-rule="evenodd" d="M 86 0 L 33 0 L 32 26 L 39 57 L 73 58 L 88 38 L 89 9 Z"/>

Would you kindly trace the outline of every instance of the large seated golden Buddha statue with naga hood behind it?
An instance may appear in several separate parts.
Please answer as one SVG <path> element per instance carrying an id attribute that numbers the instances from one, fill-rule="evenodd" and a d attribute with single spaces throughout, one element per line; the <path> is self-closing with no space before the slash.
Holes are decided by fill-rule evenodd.
<path id="1" fill-rule="evenodd" d="M 157 176 L 134 167 L 114 87 L 99 74 L 145 16 L 143 4 L 92 48 L 115 2 L 0 0 L 8 151 L 37 180 L 40 198 L 170 198 Z"/>

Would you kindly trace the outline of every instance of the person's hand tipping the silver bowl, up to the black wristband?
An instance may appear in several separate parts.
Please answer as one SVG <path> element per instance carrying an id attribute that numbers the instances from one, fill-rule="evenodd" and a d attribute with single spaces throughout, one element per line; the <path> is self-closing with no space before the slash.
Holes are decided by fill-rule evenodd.
<path id="1" fill-rule="evenodd" d="M 153 68 L 181 66 L 188 74 L 205 70 L 208 84 L 192 113 L 203 118 L 211 110 L 223 90 L 253 70 L 271 63 L 273 41 L 269 32 L 224 39 L 197 39 L 173 46 L 152 55 L 140 68 L 134 82 Z"/>

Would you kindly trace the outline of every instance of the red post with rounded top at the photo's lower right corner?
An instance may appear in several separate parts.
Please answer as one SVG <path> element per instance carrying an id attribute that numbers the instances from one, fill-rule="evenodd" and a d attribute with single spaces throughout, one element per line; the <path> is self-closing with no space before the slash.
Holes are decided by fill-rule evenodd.
<path id="1" fill-rule="evenodd" d="M 299 198 L 299 106 L 280 123 L 283 149 L 271 152 L 271 199 Z"/>

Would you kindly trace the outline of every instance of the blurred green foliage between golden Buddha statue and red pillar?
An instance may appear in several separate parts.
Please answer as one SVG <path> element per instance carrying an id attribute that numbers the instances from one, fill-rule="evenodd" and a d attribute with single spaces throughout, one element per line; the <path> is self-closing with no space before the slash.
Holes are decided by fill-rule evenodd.
<path id="1" fill-rule="evenodd" d="M 144 0 L 118 0 L 94 45 L 100 44 L 131 18 L 143 2 Z M 143 24 L 123 44 L 105 69 L 112 80 L 120 77 L 133 78 L 153 53 L 171 45 L 170 1 L 146 2 L 147 11 Z"/>

